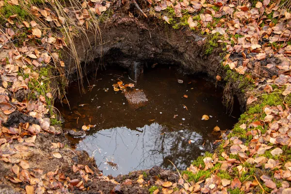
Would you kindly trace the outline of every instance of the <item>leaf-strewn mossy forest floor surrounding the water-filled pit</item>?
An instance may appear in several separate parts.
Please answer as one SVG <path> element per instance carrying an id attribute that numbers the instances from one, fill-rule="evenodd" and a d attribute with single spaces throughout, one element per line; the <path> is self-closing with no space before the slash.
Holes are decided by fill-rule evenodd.
<path id="1" fill-rule="evenodd" d="M 289 3 L 147 0 L 139 10 L 135 0 L 0 0 L 0 193 L 291 193 Z M 226 95 L 234 82 L 244 95 L 239 122 L 185 171 L 103 176 L 86 152 L 67 146 L 53 107 L 70 76 L 63 57 L 71 53 L 81 76 L 75 38 L 97 32 L 102 43 L 99 24 L 112 17 L 160 19 L 206 37 L 204 57 L 220 50 L 216 80 Z"/>

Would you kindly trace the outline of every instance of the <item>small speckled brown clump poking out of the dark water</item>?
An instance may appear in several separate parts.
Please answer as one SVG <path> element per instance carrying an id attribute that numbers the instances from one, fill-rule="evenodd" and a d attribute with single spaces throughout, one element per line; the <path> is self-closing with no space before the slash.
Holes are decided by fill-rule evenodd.
<path id="1" fill-rule="evenodd" d="M 129 105 L 133 108 L 140 108 L 143 106 L 146 106 L 148 99 L 146 97 L 146 94 L 143 90 L 135 89 L 130 90 L 124 94 L 127 101 L 129 102 Z"/>

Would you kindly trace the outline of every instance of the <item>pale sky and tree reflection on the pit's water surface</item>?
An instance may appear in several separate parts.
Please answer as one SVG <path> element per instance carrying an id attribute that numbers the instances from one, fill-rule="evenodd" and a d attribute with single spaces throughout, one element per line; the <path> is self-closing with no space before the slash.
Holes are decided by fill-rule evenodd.
<path id="1" fill-rule="evenodd" d="M 195 131 L 185 129 L 160 134 L 163 128 L 158 123 L 152 123 L 138 128 L 143 132 L 126 127 L 100 130 L 87 136 L 77 149 L 86 150 L 95 157 L 104 174 L 112 175 L 148 169 L 154 165 L 173 168 L 168 160 L 174 162 L 177 168 L 184 169 L 193 160 L 193 155 L 211 151 L 210 142 L 204 143 L 202 135 Z M 189 140 L 193 143 L 189 144 Z M 115 165 L 108 165 L 108 162 L 116 163 L 117 170 Z"/>

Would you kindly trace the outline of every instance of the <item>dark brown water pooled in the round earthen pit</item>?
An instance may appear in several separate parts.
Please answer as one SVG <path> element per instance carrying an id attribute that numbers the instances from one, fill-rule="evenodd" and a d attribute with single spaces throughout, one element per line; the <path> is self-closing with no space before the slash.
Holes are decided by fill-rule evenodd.
<path id="1" fill-rule="evenodd" d="M 178 83 L 178 79 L 183 83 Z M 129 105 L 113 84 L 134 83 L 148 102 L 135 108 Z M 79 131 L 91 125 L 84 138 L 68 135 L 72 146 L 96 159 L 103 174 L 127 174 L 154 165 L 164 169 L 185 169 L 207 151 L 220 136 L 213 128 L 231 129 L 240 115 L 239 105 L 229 115 L 222 104 L 223 90 L 201 76 L 187 76 L 174 67 L 145 70 L 136 84 L 124 69 L 98 70 L 84 85 L 78 82 L 68 90 L 67 104 L 57 105 L 65 119 L 64 128 Z M 188 98 L 183 97 L 187 95 Z M 186 108 L 187 107 L 187 108 Z M 209 120 L 201 120 L 206 114 Z M 169 162 L 171 161 L 171 162 Z"/>

